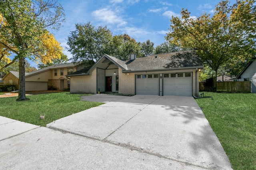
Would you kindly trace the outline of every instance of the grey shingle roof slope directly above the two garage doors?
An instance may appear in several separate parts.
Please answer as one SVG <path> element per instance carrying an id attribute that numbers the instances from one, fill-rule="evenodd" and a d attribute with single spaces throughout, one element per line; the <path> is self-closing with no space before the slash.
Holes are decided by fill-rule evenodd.
<path id="1" fill-rule="evenodd" d="M 126 61 L 128 70 L 160 70 L 184 67 L 203 67 L 203 63 L 192 50 L 150 55 Z"/>

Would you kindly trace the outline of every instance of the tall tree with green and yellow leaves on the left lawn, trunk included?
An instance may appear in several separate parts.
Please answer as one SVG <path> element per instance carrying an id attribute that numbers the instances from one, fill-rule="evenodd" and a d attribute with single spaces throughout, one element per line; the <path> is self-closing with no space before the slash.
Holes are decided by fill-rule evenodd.
<path id="1" fill-rule="evenodd" d="M 25 96 L 25 58 L 44 63 L 60 57 L 62 48 L 47 29 L 60 27 L 64 21 L 63 9 L 56 0 L 0 0 L 0 14 L 1 55 L 14 55 L 13 63 L 19 60 L 18 101 L 28 100 Z"/>

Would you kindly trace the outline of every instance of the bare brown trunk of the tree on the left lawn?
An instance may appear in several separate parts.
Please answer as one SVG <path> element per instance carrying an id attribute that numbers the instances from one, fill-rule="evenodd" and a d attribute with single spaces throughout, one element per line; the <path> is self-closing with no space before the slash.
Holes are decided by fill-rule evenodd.
<path id="1" fill-rule="evenodd" d="M 29 100 L 25 91 L 25 57 L 19 58 L 19 98 L 17 101 Z"/>

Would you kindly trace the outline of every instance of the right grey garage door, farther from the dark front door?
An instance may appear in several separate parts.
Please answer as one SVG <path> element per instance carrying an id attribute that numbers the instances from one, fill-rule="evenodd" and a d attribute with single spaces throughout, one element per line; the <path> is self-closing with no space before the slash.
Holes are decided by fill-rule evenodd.
<path id="1" fill-rule="evenodd" d="M 192 72 L 163 75 L 164 96 L 192 96 Z"/>

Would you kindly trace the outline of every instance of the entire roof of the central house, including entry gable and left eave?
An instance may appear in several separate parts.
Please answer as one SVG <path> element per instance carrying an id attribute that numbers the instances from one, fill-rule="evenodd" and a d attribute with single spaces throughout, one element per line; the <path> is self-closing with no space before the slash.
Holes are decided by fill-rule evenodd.
<path id="1" fill-rule="evenodd" d="M 115 57 L 104 54 L 93 66 L 90 66 L 90 68 L 84 68 L 66 76 L 88 75 L 99 63 L 116 64 L 122 69 L 122 72 L 177 70 L 204 67 L 203 63 L 196 55 L 196 52 L 193 50 L 156 54 L 126 61 L 121 61 Z"/>

